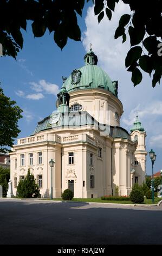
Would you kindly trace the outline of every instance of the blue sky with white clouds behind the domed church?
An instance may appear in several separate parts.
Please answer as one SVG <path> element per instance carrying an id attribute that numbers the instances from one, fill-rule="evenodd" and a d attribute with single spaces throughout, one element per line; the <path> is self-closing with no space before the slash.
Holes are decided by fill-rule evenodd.
<path id="1" fill-rule="evenodd" d="M 88 5 L 89 6 L 89 5 Z M 4 93 L 17 102 L 24 113 L 19 121 L 21 133 L 18 136 L 29 136 L 35 129 L 37 121 L 54 111 L 56 94 L 62 86 L 62 76 L 68 77 L 74 69 L 84 65 L 83 56 L 92 48 L 97 54 L 98 65 L 112 78 L 118 80 L 119 99 L 124 105 L 121 126 L 129 131 L 138 112 L 147 137 L 147 151 L 151 148 L 157 154 L 154 172 L 162 169 L 162 100 L 161 84 L 154 89 L 151 78 L 144 74 L 142 83 L 133 88 L 131 74 L 125 69 L 125 57 L 129 50 L 129 36 L 122 44 L 121 39 L 114 40 L 115 28 L 120 16 L 129 13 L 129 7 L 119 3 L 112 21 L 104 18 L 98 25 L 93 8 L 85 9 L 79 23 L 82 31 L 82 42 L 68 40 L 61 51 L 53 40 L 53 33 L 47 31 L 42 38 L 34 38 L 31 33 L 31 22 L 28 22 L 27 33 L 23 32 L 23 50 L 18 54 L 17 62 L 11 57 L 0 58 L 1 86 Z M 147 157 L 147 174 L 151 174 L 151 161 Z"/>

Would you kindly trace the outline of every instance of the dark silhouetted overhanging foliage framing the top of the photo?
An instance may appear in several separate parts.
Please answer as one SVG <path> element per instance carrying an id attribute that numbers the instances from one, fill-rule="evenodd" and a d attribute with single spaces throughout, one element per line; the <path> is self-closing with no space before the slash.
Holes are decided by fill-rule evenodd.
<path id="1" fill-rule="evenodd" d="M 87 0 L 89 2 L 89 0 Z M 112 19 L 115 5 L 119 0 L 91 0 L 94 14 L 100 23 L 106 15 Z M 129 4 L 131 14 L 120 17 L 115 31 L 115 39 L 122 36 L 122 42 L 129 34 L 131 48 L 126 56 L 127 71 L 132 72 L 134 86 L 142 81 L 141 71 L 153 75 L 152 86 L 160 83 L 162 75 L 162 2 L 122 0 Z M 68 38 L 80 41 L 81 31 L 77 15 L 82 15 L 85 0 L 1 0 L 0 1 L 0 43 L 3 54 L 16 58 L 23 47 L 21 29 L 26 31 L 27 21 L 31 20 L 36 37 L 44 33 L 54 33 L 54 41 L 62 49 Z M 138 47 L 138 48 L 137 48 Z"/>

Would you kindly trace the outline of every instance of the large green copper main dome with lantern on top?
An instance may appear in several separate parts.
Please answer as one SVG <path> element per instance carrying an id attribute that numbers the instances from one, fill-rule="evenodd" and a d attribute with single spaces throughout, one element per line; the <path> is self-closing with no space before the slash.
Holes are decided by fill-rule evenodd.
<path id="1" fill-rule="evenodd" d="M 91 49 L 90 49 L 91 50 Z M 73 70 L 72 74 L 64 82 L 67 92 L 73 92 L 79 89 L 105 89 L 118 95 L 118 82 L 112 82 L 111 78 L 99 66 L 98 57 L 93 51 L 86 53 L 85 66 Z"/>

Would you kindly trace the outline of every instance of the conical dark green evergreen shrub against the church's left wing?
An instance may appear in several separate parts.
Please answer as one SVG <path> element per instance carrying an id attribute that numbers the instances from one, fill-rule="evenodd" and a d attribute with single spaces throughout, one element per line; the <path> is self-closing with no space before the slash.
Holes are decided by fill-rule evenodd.
<path id="1" fill-rule="evenodd" d="M 17 196 L 20 198 L 37 198 L 40 194 L 40 188 L 36 184 L 34 175 L 30 174 L 30 169 L 24 180 L 20 180 L 17 186 Z"/>

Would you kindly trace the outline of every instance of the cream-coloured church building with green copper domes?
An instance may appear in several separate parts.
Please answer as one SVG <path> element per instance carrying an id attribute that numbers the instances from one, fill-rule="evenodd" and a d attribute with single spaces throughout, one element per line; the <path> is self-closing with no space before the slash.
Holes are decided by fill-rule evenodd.
<path id="1" fill-rule="evenodd" d="M 120 126 L 123 106 L 118 81 L 98 65 L 92 49 L 85 65 L 63 78 L 56 107 L 38 122 L 29 137 L 18 139 L 11 159 L 13 192 L 28 169 L 41 197 L 61 197 L 66 188 L 75 198 L 128 196 L 135 183 L 145 180 L 146 131 L 138 119 L 131 133 Z M 54 167 L 49 161 L 55 162 Z"/>

